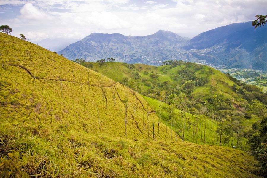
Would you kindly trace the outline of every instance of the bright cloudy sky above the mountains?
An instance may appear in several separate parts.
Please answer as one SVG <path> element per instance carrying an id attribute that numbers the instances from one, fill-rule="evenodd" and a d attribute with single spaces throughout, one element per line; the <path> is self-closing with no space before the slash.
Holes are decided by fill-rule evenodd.
<path id="1" fill-rule="evenodd" d="M 90 33 L 145 36 L 168 30 L 192 38 L 266 15 L 267 0 L 0 0 L 0 25 L 31 41 Z"/>

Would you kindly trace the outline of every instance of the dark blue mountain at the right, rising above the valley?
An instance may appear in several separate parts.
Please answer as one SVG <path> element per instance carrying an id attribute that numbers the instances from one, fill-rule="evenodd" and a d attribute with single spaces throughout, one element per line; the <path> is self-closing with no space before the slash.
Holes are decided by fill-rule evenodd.
<path id="1" fill-rule="evenodd" d="M 214 57 L 207 61 L 231 68 L 267 68 L 267 28 L 251 26 L 251 22 L 234 23 L 206 31 L 188 41 L 184 49 Z"/>

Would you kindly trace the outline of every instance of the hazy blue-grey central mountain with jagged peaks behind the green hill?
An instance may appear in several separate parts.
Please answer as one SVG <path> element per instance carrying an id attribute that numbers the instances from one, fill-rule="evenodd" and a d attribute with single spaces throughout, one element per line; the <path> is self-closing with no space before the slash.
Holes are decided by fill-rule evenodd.
<path id="1" fill-rule="evenodd" d="M 91 33 L 58 53 L 68 59 L 83 57 L 87 61 L 96 61 L 113 57 L 121 62 L 158 64 L 178 57 L 174 53 L 186 41 L 175 33 L 162 30 L 147 36 Z"/>

